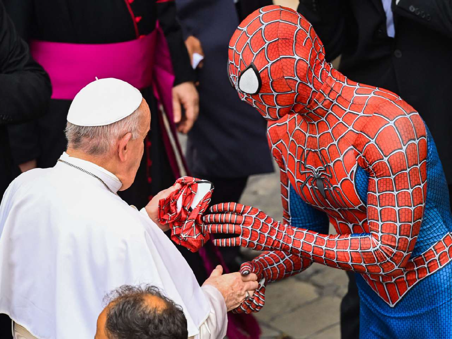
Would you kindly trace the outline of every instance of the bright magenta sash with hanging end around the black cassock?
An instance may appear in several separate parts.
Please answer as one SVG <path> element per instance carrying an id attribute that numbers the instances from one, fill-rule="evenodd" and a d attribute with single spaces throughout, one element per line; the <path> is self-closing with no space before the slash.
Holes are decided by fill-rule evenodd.
<path id="1" fill-rule="evenodd" d="M 173 123 L 171 89 L 174 82 L 170 52 L 163 32 L 157 23 L 152 33 L 142 38 L 116 43 L 80 44 L 33 40 L 30 42 L 33 58 L 47 71 L 52 82 L 52 99 L 72 100 L 80 89 L 97 76 L 124 80 L 138 89 L 152 87 L 158 106 L 170 122 L 169 130 L 163 123 L 162 137 L 174 176 L 181 176 L 175 153 L 187 164 L 177 140 Z M 159 116 L 161 120 L 161 116 Z M 173 149 L 168 134 L 174 138 Z"/>

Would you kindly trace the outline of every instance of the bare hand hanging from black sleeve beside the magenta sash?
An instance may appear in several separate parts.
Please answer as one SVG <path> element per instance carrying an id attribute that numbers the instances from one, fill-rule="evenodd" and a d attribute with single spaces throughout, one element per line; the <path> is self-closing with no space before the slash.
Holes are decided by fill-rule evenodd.
<path id="1" fill-rule="evenodd" d="M 182 107 L 185 110 L 184 117 Z M 193 82 L 183 82 L 173 87 L 173 113 L 178 131 L 188 133 L 199 113 L 199 95 Z"/>

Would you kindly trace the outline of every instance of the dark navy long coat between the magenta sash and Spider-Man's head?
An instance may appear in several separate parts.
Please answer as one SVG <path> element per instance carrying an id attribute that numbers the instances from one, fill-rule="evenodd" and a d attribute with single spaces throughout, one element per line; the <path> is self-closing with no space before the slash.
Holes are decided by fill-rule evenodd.
<path id="1" fill-rule="evenodd" d="M 240 101 L 226 72 L 229 40 L 239 24 L 234 1 L 176 0 L 176 5 L 184 35 L 198 38 L 205 56 L 198 69 L 199 118 L 188 133 L 189 169 L 221 178 L 272 172 L 267 123 Z"/>

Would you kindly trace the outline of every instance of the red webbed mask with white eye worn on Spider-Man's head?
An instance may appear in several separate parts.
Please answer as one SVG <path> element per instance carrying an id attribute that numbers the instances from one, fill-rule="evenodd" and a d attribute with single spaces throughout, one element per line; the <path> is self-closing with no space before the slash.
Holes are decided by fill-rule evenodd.
<path id="1" fill-rule="evenodd" d="M 301 113 L 329 69 L 314 28 L 289 8 L 266 6 L 254 11 L 229 42 L 231 84 L 240 99 L 267 120 Z"/>

